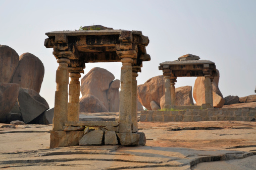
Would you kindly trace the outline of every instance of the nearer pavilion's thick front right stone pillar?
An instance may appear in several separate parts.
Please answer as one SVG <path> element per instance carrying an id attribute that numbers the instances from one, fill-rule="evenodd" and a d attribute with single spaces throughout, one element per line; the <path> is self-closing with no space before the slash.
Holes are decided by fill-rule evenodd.
<path id="1" fill-rule="evenodd" d="M 119 107 L 119 132 L 132 132 L 132 62 L 133 59 L 124 57 L 121 59 L 121 91 Z"/>

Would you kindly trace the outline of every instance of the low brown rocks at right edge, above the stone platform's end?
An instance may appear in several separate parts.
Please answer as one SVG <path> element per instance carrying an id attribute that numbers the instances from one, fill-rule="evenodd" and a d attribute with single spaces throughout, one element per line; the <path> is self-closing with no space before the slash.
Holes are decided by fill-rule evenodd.
<path id="1" fill-rule="evenodd" d="M 250 95 L 239 98 L 238 96 L 227 96 L 224 98 L 225 104 L 224 105 L 233 105 L 238 103 L 251 103 L 256 102 L 256 95 Z"/>

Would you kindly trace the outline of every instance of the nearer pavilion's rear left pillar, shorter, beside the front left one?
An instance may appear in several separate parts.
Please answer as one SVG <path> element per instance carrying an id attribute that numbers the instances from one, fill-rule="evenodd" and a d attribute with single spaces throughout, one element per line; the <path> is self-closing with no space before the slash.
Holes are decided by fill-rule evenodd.
<path id="1" fill-rule="evenodd" d="M 68 103 L 68 121 L 79 121 L 79 96 L 80 96 L 80 72 L 82 67 L 69 68 L 69 103 Z"/>

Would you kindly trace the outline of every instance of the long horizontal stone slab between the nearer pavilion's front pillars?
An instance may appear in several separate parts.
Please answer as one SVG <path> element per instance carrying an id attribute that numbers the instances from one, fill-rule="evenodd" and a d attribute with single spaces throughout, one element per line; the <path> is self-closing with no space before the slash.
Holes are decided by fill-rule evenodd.
<path id="1" fill-rule="evenodd" d="M 66 126 L 88 126 L 88 127 L 105 127 L 118 126 L 118 121 L 66 121 Z"/>

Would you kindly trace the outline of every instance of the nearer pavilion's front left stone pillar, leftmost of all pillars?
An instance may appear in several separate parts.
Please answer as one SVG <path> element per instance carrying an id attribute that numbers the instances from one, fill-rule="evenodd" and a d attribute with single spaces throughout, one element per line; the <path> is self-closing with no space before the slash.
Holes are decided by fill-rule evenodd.
<path id="1" fill-rule="evenodd" d="M 56 71 L 57 90 L 55 92 L 55 108 L 53 119 L 53 131 L 63 130 L 68 117 L 68 83 L 70 63 L 68 55 L 58 55 L 59 67 Z"/>

